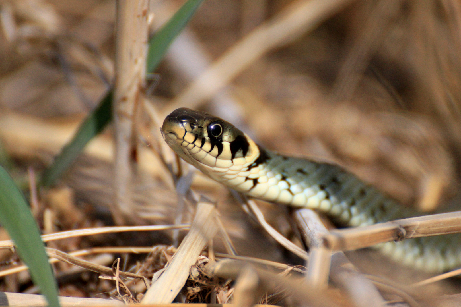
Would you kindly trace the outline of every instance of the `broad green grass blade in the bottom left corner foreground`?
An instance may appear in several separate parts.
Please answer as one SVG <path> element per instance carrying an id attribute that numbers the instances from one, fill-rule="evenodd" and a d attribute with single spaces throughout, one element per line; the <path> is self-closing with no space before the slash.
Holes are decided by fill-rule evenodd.
<path id="1" fill-rule="evenodd" d="M 49 306 L 59 307 L 58 286 L 35 220 L 23 194 L 5 168 L 0 166 L 0 222 L 14 241 L 19 256 L 29 266 L 34 284 Z"/>

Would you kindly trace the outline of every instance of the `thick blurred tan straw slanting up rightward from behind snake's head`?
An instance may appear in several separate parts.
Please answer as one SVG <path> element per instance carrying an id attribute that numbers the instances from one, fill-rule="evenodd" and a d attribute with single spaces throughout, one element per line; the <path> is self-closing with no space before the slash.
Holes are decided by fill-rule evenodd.
<path id="1" fill-rule="evenodd" d="M 298 0 L 283 12 L 263 23 L 231 47 L 211 67 L 180 93 L 164 114 L 179 107 L 196 108 L 213 97 L 249 64 L 275 47 L 313 30 L 351 0 Z"/>

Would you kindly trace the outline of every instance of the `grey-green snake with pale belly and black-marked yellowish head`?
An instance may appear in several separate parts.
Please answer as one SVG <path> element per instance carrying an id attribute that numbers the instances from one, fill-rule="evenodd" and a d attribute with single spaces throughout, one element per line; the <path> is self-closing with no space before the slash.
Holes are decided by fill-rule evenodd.
<path id="1" fill-rule="evenodd" d="M 315 209 L 337 225 L 368 226 L 422 215 L 338 165 L 285 156 L 257 145 L 231 123 L 179 108 L 165 117 L 165 142 L 184 161 L 248 197 Z M 373 248 L 414 269 L 438 273 L 461 266 L 461 235 L 380 243 Z"/>

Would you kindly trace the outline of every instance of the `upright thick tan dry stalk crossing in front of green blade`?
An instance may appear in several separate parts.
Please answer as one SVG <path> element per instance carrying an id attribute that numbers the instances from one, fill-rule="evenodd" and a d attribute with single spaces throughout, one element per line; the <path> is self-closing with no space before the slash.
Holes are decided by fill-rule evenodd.
<path id="1" fill-rule="evenodd" d="M 115 27 L 114 191 L 116 224 L 135 220 L 131 209 L 131 153 L 136 105 L 142 103 L 146 77 L 148 0 L 117 0 Z"/>

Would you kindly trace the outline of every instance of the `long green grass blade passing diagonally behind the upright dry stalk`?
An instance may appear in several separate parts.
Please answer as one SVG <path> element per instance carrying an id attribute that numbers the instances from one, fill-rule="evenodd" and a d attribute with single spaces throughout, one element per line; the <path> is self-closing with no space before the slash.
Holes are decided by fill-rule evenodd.
<path id="1" fill-rule="evenodd" d="M 157 68 L 168 46 L 184 29 L 202 2 L 203 0 L 188 0 L 149 41 L 147 72 L 152 72 Z M 73 139 L 65 145 L 53 164 L 45 170 L 42 176 L 42 185 L 51 186 L 56 183 L 89 140 L 100 133 L 112 120 L 111 109 L 112 93 L 109 93 L 101 101 L 99 107 L 85 119 Z"/>

